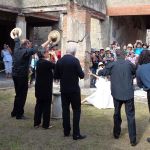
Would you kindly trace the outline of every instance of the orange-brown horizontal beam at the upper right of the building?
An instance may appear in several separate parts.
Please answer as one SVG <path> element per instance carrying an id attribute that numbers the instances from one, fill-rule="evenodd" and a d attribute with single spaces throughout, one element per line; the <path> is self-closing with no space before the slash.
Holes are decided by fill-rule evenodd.
<path id="1" fill-rule="evenodd" d="M 107 8 L 108 16 L 150 15 L 150 5 L 128 5 Z"/>

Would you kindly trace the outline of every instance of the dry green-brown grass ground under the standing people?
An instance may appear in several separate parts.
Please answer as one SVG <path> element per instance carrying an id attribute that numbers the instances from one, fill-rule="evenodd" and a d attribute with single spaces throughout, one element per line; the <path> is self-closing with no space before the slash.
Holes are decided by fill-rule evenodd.
<path id="1" fill-rule="evenodd" d="M 84 97 L 84 96 L 83 96 Z M 34 88 L 28 92 L 25 115 L 30 119 L 16 120 L 10 117 L 14 90 L 0 91 L 0 150 L 149 150 L 146 138 L 150 136 L 147 104 L 136 103 L 136 124 L 138 145 L 131 147 L 128 137 L 127 119 L 122 107 L 122 132 L 119 140 L 113 139 L 113 109 L 100 110 L 82 105 L 81 133 L 87 138 L 74 141 L 63 137 L 62 120 L 51 122 L 50 130 L 33 128 L 35 107 Z"/>

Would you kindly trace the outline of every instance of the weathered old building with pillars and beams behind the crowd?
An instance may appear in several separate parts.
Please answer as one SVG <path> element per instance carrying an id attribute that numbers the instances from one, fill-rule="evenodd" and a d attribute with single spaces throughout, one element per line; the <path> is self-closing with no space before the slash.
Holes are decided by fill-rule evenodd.
<path id="1" fill-rule="evenodd" d="M 107 3 L 106 3 L 107 2 Z M 150 29 L 149 0 L 5 0 L 0 1 L 0 48 L 13 47 L 10 31 L 20 27 L 22 38 L 41 44 L 52 29 L 61 33 L 59 48 L 65 53 L 67 41 L 77 43 L 77 57 L 82 67 L 89 67 L 91 47 L 107 47 L 146 42 Z M 84 85 L 88 86 L 88 76 Z"/>

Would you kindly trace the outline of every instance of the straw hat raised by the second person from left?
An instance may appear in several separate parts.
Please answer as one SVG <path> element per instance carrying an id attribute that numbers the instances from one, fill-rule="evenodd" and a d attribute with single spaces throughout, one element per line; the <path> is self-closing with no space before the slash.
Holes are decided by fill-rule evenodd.
<path id="1" fill-rule="evenodd" d="M 60 41 L 60 33 L 57 30 L 52 30 L 48 35 L 48 39 L 52 41 L 52 45 L 56 45 Z"/>

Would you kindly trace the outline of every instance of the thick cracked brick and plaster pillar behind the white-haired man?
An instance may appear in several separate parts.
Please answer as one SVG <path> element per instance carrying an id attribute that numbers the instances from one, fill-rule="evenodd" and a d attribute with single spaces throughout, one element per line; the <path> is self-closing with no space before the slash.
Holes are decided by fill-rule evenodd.
<path id="1" fill-rule="evenodd" d="M 76 5 L 68 7 L 68 13 L 63 16 L 62 24 L 62 53 L 66 51 L 67 41 L 77 46 L 76 57 L 80 60 L 85 72 L 88 72 L 91 48 L 90 43 L 90 14 L 85 9 L 78 9 Z M 89 76 L 84 78 L 85 87 L 89 87 Z"/>

